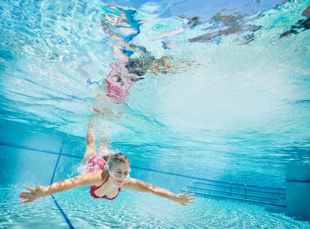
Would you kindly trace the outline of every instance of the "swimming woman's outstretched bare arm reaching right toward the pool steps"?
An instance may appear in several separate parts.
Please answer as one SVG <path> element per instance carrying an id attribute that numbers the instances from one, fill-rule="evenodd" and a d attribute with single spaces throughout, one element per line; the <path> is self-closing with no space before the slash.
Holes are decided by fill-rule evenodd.
<path id="1" fill-rule="evenodd" d="M 141 180 L 134 178 L 129 178 L 122 186 L 122 189 L 133 190 L 137 192 L 151 192 L 156 196 L 173 200 L 175 202 L 180 203 L 181 205 L 188 205 L 196 202 L 196 201 L 190 201 L 196 199 L 196 197 L 189 198 L 193 196 L 194 193 L 186 195 L 188 190 L 186 190 L 183 194 L 175 195 L 166 189 L 155 187 L 153 185 L 150 185 L 148 183 L 145 183 Z"/>

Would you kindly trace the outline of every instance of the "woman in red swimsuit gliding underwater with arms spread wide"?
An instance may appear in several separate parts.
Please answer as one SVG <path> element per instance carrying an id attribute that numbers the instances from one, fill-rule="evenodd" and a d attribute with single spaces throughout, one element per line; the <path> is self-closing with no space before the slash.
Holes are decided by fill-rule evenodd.
<path id="1" fill-rule="evenodd" d="M 108 149 L 108 142 L 105 142 L 105 149 Z M 58 192 L 69 190 L 73 187 L 90 186 L 90 194 L 95 199 L 115 199 L 120 190 L 133 190 L 136 192 L 149 192 L 156 196 L 173 200 L 181 205 L 195 203 L 194 193 L 175 195 L 165 189 L 152 186 L 141 180 L 130 178 L 130 161 L 121 153 L 98 156 L 95 147 L 95 133 L 92 125 L 89 126 L 86 134 L 86 152 L 82 164 L 87 165 L 86 174 L 59 181 L 48 187 L 37 185 L 36 188 L 25 187 L 30 192 L 20 192 L 20 203 L 29 203 L 38 198 L 49 196 Z"/>

